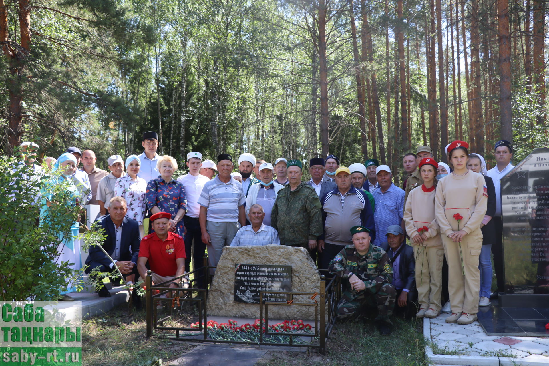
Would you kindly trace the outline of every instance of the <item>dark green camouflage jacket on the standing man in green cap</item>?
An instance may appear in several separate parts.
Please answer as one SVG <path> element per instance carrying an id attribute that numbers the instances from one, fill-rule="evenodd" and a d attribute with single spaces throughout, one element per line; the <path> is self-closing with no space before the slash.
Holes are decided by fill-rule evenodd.
<path id="1" fill-rule="evenodd" d="M 278 191 L 271 213 L 271 226 L 278 230 L 280 244 L 307 248 L 323 232 L 320 200 L 315 188 L 301 182 Z"/>

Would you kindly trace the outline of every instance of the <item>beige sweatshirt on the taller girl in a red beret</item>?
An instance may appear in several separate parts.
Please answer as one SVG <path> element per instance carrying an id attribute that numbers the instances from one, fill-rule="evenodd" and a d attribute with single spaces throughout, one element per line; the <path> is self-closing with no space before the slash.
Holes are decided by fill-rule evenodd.
<path id="1" fill-rule="evenodd" d="M 458 230 L 467 234 L 480 235 L 480 224 L 486 214 L 488 190 L 484 177 L 473 171 L 467 171 L 461 177 L 453 173 L 440 179 L 435 195 L 436 222 L 440 232 L 449 235 Z M 459 213 L 463 219 L 459 222 L 453 217 Z"/>

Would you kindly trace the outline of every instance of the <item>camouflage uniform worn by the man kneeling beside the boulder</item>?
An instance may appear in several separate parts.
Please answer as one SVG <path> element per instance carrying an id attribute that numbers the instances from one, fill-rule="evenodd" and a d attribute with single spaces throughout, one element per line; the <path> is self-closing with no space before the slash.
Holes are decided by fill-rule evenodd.
<path id="1" fill-rule="evenodd" d="M 337 317 L 351 317 L 363 303 L 374 297 L 379 314 L 376 320 L 390 323 L 396 301 L 396 290 L 391 284 L 393 267 L 389 256 L 379 246 L 370 244 L 368 252 L 361 256 L 354 245 L 348 245 L 330 262 L 329 272 L 341 277 L 343 294 L 338 303 Z M 349 277 L 355 274 L 364 281 L 365 290 L 351 290 Z"/>

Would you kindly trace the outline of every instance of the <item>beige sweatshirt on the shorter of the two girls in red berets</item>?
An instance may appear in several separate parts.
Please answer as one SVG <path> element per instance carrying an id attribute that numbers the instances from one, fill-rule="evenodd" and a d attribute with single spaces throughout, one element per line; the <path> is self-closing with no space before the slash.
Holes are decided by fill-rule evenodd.
<path id="1" fill-rule="evenodd" d="M 429 230 L 425 232 L 427 240 L 423 242 L 423 245 L 442 247 L 440 228 L 435 218 L 436 189 L 431 192 L 425 192 L 422 187 L 423 184 L 412 189 L 410 194 L 408 194 L 404 209 L 406 233 L 408 237 L 413 238 L 419 235 L 418 228 L 426 226 Z M 412 240 L 410 240 L 410 244 L 417 245 Z"/>

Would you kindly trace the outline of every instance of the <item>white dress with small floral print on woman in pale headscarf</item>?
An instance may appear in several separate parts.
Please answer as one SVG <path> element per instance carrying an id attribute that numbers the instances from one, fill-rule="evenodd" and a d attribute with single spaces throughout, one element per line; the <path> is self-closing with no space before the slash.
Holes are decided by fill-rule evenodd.
<path id="1" fill-rule="evenodd" d="M 130 174 L 126 174 L 118 179 L 114 184 L 114 195 L 124 198 L 128 205 L 126 217 L 134 219 L 139 225 L 143 225 L 145 217 L 145 191 L 147 182 L 145 179 L 137 177 L 133 179 Z"/>

